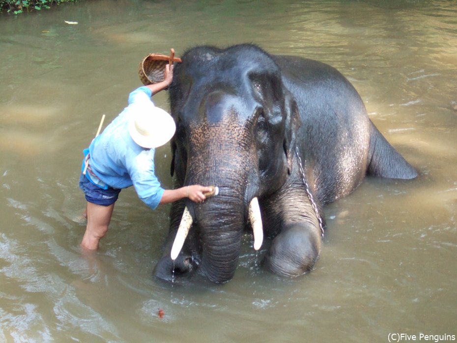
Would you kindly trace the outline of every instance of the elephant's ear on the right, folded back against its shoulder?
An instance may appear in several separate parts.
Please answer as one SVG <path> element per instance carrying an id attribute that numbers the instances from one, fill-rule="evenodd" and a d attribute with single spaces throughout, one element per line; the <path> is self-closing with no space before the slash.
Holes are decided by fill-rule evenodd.
<path id="1" fill-rule="evenodd" d="M 292 171 L 293 154 L 296 146 L 296 135 L 301 125 L 298 106 L 292 94 L 285 90 L 286 125 L 284 134 L 284 152 L 287 159 L 287 171 L 290 174 Z"/>

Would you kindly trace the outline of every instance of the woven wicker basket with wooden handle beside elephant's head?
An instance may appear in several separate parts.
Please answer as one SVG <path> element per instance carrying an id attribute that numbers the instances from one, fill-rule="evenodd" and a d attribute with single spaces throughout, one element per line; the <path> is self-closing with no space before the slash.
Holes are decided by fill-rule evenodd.
<path id="1" fill-rule="evenodd" d="M 143 58 L 138 67 L 138 74 L 144 86 L 157 84 L 164 80 L 165 66 L 171 62 L 182 62 L 181 58 L 174 57 L 174 50 L 171 55 L 149 54 Z"/>

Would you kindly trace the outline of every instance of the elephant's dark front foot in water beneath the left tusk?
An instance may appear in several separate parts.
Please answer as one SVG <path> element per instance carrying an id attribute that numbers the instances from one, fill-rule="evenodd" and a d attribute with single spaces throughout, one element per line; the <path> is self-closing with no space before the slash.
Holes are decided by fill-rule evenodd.
<path id="1" fill-rule="evenodd" d="M 152 272 L 157 278 L 174 282 L 188 278 L 196 269 L 196 263 L 191 256 L 179 255 L 173 261 L 170 256 L 162 257 Z"/>

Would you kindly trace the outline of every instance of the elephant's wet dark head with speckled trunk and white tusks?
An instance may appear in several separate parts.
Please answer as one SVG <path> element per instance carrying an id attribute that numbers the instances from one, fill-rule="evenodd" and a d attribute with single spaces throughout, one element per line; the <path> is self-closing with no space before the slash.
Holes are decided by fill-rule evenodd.
<path id="1" fill-rule="evenodd" d="M 216 185 L 219 194 L 173 204 L 155 274 L 167 280 L 197 271 L 223 283 L 234 275 L 244 230 L 257 228 L 255 248 L 261 244 L 258 202 L 262 208 L 286 184 L 299 118 L 278 65 L 255 46 L 199 47 L 182 60 L 170 88 L 171 172 L 177 186 Z M 174 243 L 180 223 L 188 235 Z"/>

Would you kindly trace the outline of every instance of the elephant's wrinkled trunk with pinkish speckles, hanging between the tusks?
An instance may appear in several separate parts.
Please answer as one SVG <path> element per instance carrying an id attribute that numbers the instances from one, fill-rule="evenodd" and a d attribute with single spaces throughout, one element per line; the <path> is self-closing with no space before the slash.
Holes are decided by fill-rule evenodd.
<path id="1" fill-rule="evenodd" d="M 217 96 L 212 93 L 210 99 Z M 209 112 L 214 112 L 208 117 L 220 116 L 217 106 L 213 108 L 210 101 L 205 104 Z M 199 204 L 187 202 L 194 222 L 191 230 L 195 230 L 200 242 L 199 273 L 216 283 L 229 281 L 235 273 L 248 204 L 258 192 L 258 168 L 253 163 L 257 161 L 257 151 L 246 143 L 251 132 L 239 125 L 236 111 L 222 112 L 227 116 L 222 122 L 191 125 L 182 182 L 219 187 L 215 197 Z"/>

